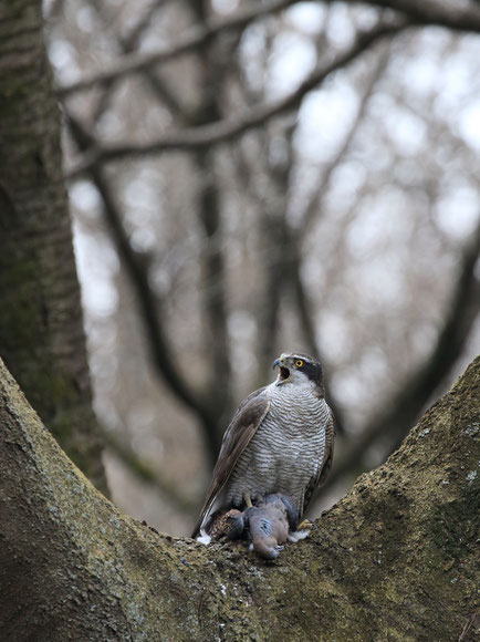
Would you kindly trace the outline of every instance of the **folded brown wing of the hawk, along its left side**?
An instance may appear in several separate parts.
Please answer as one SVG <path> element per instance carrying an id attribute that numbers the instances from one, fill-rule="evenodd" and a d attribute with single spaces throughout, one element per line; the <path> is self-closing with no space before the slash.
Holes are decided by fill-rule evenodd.
<path id="1" fill-rule="evenodd" d="M 258 427 L 269 412 L 270 401 L 264 394 L 262 394 L 264 390 L 264 387 L 257 390 L 242 401 L 230 422 L 230 425 L 225 432 L 220 454 L 213 468 L 210 486 L 208 488 L 207 499 L 200 510 L 191 537 L 197 536 L 205 516 L 208 514 L 217 499 L 218 494 L 228 482 L 240 455 L 247 448 Z"/>

